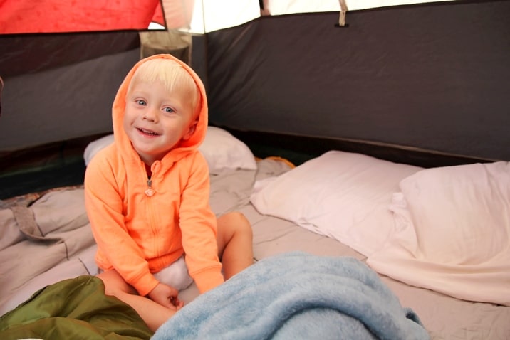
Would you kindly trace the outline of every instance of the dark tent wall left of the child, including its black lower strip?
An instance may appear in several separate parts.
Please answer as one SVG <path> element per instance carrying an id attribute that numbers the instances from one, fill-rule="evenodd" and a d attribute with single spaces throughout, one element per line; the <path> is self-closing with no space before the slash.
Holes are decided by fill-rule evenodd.
<path id="1" fill-rule="evenodd" d="M 111 133 L 136 31 L 0 36 L 0 199 L 83 183 L 83 150 Z"/>

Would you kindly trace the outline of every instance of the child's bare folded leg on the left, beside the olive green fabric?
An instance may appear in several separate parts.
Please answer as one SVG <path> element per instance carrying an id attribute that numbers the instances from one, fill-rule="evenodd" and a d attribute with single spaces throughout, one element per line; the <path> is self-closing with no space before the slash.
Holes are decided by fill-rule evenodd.
<path id="1" fill-rule="evenodd" d="M 120 299 L 120 301 L 129 304 L 152 331 L 156 331 L 159 326 L 170 319 L 176 312 L 147 297 L 138 295 L 136 290 L 127 285 L 116 270 L 107 270 L 100 273 L 98 277 L 105 284 L 105 294 L 113 295 Z"/>

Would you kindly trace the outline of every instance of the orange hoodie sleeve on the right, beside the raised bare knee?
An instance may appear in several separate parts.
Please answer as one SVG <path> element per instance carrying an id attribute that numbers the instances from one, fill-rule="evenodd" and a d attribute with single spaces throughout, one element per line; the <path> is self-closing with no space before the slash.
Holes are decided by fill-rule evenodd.
<path id="1" fill-rule="evenodd" d="M 209 171 L 197 152 L 182 193 L 179 212 L 182 245 L 189 275 L 201 293 L 224 282 L 218 258 L 216 216 L 209 206 Z"/>

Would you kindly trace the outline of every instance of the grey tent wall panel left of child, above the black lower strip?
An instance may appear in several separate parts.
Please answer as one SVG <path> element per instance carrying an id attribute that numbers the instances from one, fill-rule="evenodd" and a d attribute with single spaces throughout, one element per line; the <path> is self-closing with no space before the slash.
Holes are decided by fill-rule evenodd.
<path id="1" fill-rule="evenodd" d="M 0 36 L 0 152 L 111 131 L 118 87 L 140 58 L 138 33 Z"/>

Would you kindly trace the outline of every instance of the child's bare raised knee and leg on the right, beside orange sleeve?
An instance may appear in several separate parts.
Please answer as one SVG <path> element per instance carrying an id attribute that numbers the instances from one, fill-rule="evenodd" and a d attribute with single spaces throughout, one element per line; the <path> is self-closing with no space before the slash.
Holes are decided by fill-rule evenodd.
<path id="1" fill-rule="evenodd" d="M 253 233 L 242 213 L 227 213 L 218 218 L 218 256 L 225 280 L 253 264 Z"/>

